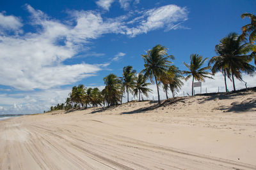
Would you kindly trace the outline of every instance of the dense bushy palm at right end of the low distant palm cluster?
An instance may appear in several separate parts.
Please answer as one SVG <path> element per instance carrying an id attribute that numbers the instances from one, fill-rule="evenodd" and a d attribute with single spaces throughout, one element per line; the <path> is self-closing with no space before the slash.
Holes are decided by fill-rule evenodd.
<path id="1" fill-rule="evenodd" d="M 108 106 L 115 105 L 120 102 L 121 92 L 121 80 L 115 74 L 109 74 L 104 77 L 104 83 L 106 87 L 102 90 L 104 95 L 104 101 L 108 103 Z"/>

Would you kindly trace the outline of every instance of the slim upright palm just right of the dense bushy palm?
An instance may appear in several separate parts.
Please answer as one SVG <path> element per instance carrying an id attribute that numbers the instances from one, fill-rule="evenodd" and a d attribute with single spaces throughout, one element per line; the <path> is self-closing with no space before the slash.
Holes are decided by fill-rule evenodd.
<path id="1" fill-rule="evenodd" d="M 132 68 L 132 66 L 126 66 L 123 69 L 123 85 L 124 90 L 127 92 L 127 102 L 129 102 L 129 90 L 132 90 L 135 83 L 135 76 L 136 70 Z"/>

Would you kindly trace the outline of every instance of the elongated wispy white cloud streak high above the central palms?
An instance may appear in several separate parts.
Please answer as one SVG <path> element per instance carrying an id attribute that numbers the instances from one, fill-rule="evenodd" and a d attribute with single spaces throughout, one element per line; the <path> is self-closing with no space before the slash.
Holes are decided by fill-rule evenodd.
<path id="1" fill-rule="evenodd" d="M 127 29 L 129 36 L 147 33 L 159 28 L 166 27 L 166 30 L 177 29 L 175 25 L 188 19 L 188 10 L 170 4 L 145 11 L 140 17 L 136 17 L 128 24 L 139 23 L 136 27 Z"/>

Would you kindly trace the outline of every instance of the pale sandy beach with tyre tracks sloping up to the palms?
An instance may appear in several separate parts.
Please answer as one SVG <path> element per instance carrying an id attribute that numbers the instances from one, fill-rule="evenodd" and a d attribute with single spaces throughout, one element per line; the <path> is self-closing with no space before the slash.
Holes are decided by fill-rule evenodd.
<path id="1" fill-rule="evenodd" d="M 0 169 L 256 169 L 256 93 L 0 122 Z"/>

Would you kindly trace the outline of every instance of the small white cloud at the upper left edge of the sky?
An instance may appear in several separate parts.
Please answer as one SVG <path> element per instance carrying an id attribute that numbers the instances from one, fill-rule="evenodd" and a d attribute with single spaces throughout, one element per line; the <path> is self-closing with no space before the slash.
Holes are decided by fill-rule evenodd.
<path id="1" fill-rule="evenodd" d="M 3 34 L 3 31 L 20 31 L 20 27 L 22 27 L 22 23 L 18 17 L 12 15 L 4 15 L 0 13 L 0 34 Z"/>

